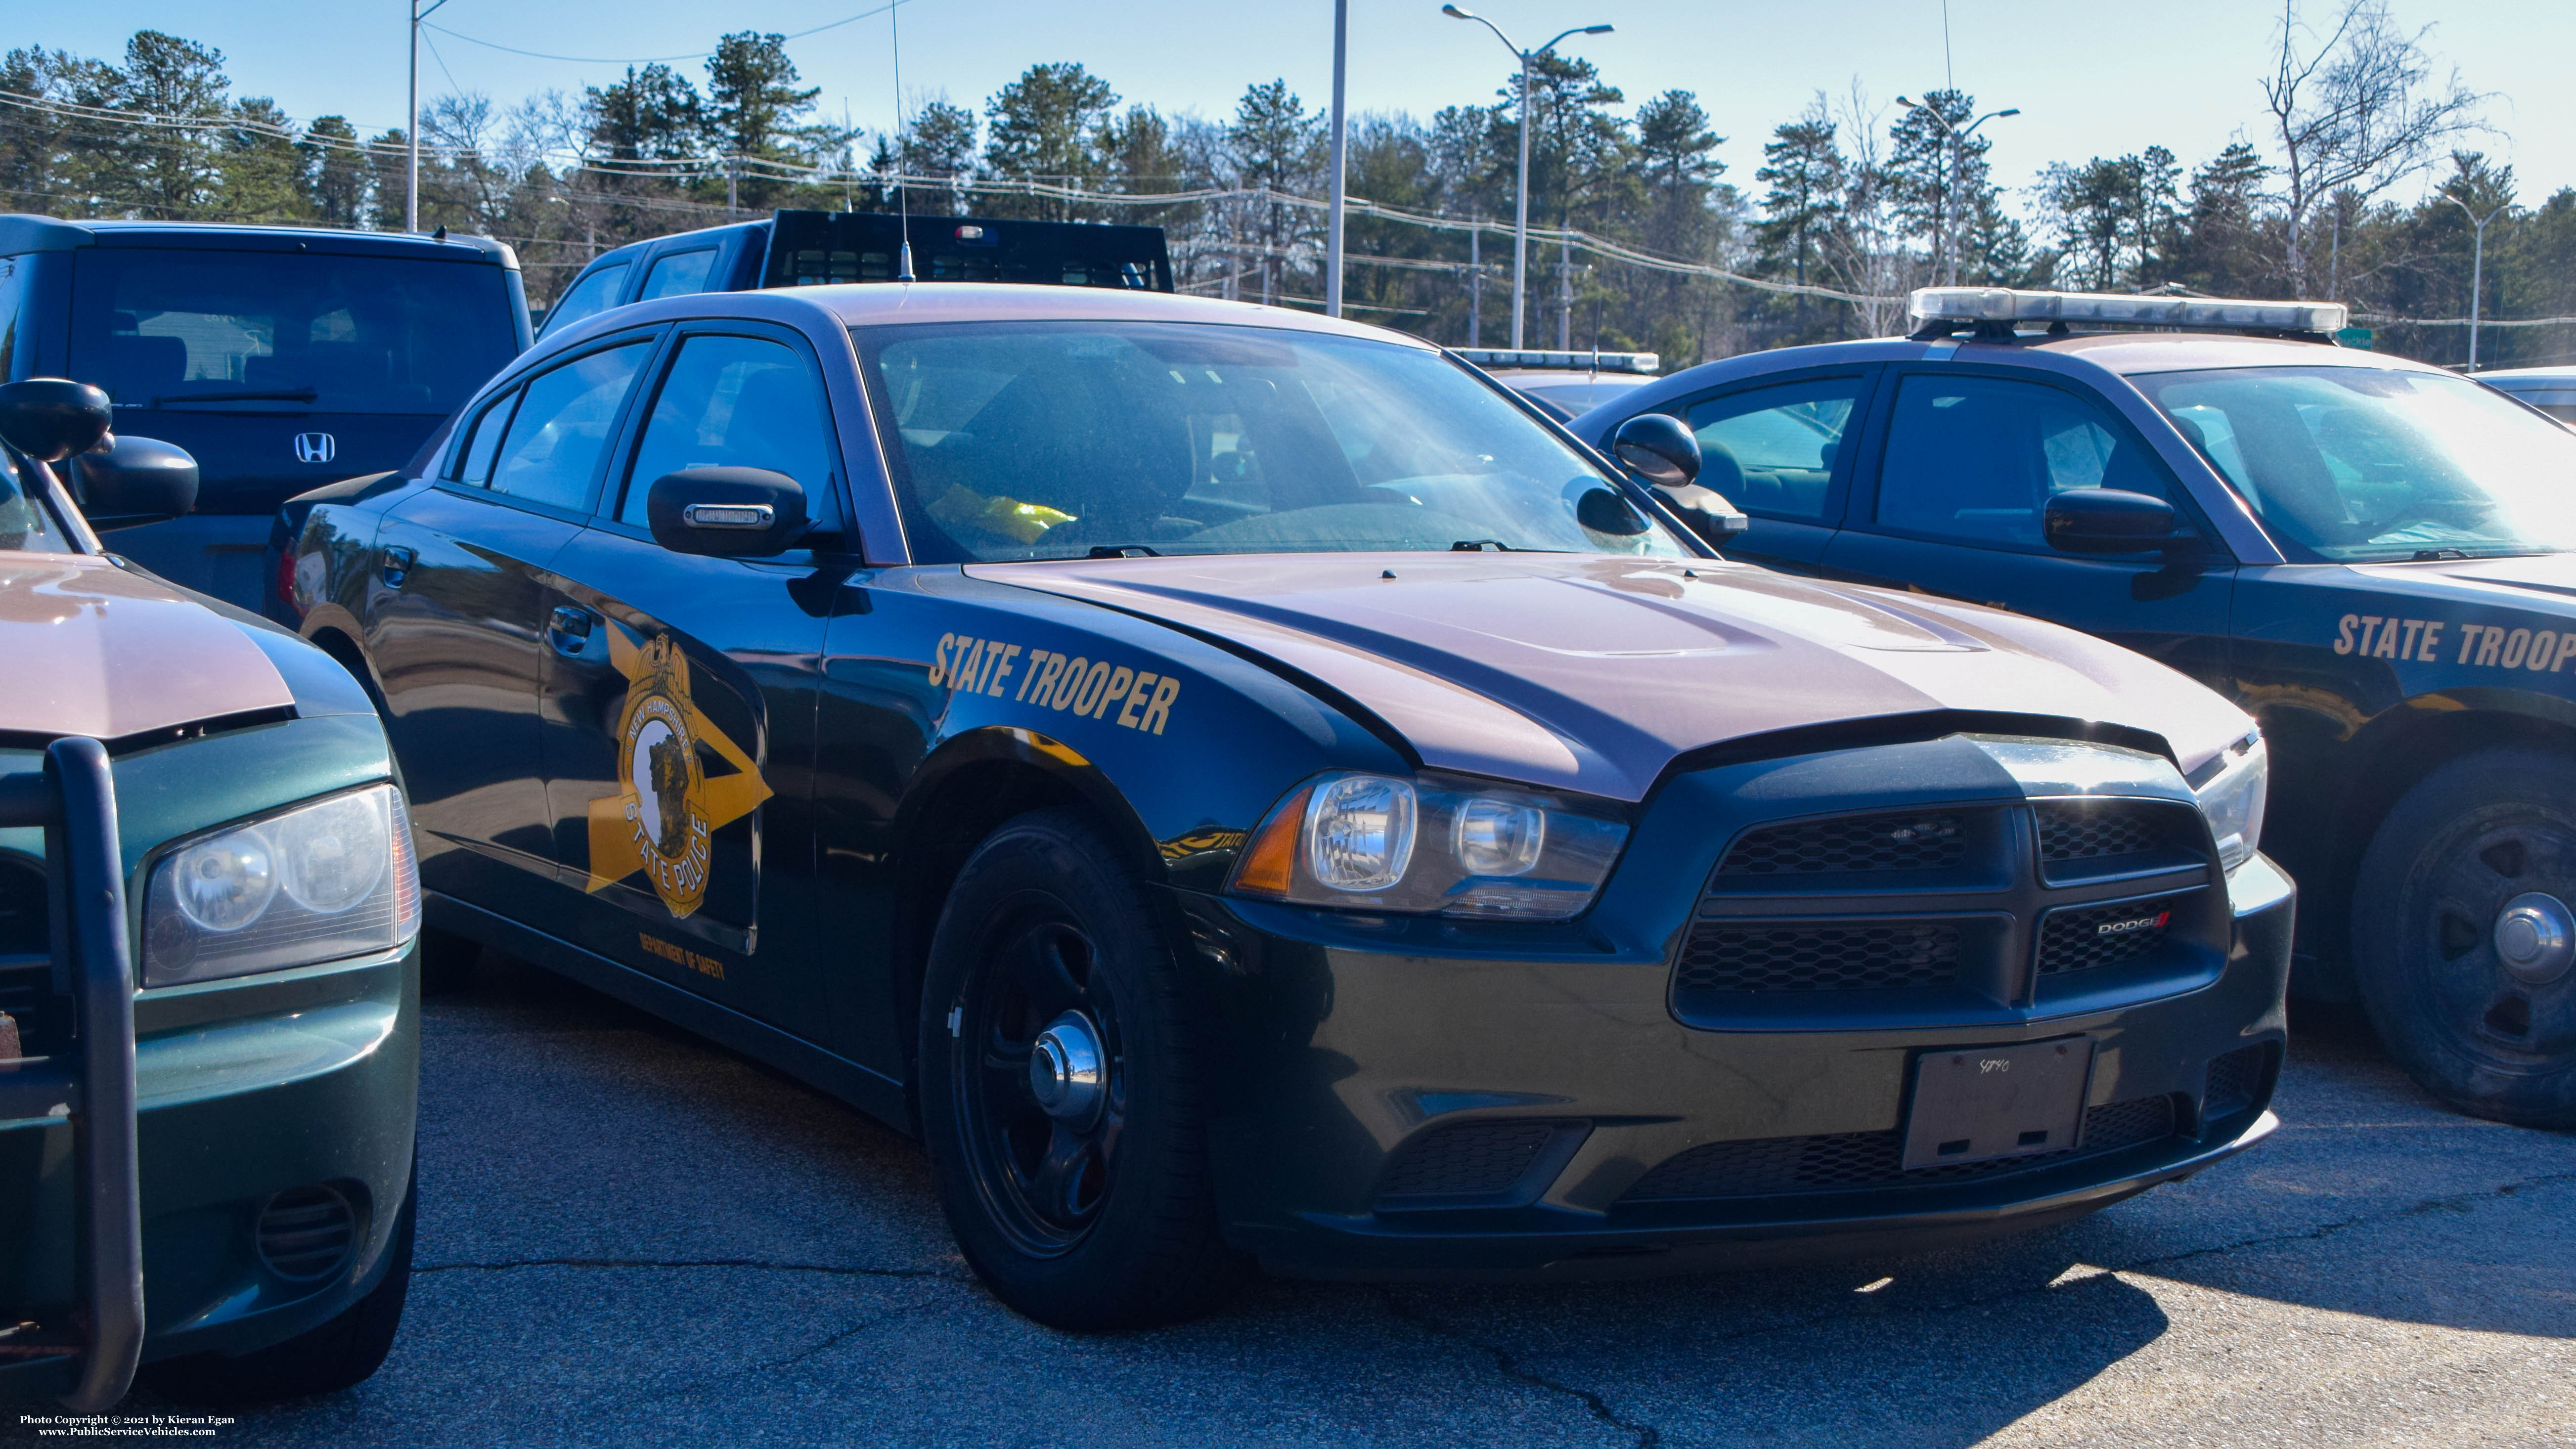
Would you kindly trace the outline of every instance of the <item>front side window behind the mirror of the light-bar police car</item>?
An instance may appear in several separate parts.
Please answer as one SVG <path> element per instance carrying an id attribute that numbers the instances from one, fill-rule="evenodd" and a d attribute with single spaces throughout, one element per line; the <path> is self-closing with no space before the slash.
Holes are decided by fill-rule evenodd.
<path id="1" fill-rule="evenodd" d="M 2045 551 L 2048 499 L 2071 489 L 2174 499 L 2164 463 L 2087 396 L 1991 376 L 1899 381 L 1878 476 L 1880 528 Z"/>

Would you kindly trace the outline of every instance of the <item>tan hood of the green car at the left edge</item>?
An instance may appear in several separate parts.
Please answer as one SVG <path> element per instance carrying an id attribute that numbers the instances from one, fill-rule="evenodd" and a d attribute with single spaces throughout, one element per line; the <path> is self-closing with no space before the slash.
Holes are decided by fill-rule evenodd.
<path id="1" fill-rule="evenodd" d="M 294 705 L 229 618 L 82 553 L 0 553 L 0 731 L 121 739 Z"/>

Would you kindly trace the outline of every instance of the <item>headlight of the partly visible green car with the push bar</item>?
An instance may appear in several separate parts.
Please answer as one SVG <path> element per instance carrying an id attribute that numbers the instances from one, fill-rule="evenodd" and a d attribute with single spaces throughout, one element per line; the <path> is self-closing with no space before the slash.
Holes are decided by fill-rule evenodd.
<path id="1" fill-rule="evenodd" d="M 394 950 L 420 929 L 402 793 L 371 785 L 183 844 L 144 896 L 144 986 Z"/>

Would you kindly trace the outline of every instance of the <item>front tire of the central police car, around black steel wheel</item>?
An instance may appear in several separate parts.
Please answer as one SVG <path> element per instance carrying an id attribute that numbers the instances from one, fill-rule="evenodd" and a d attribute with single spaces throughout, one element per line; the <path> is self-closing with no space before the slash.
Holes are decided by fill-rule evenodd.
<path id="1" fill-rule="evenodd" d="M 1090 1112 L 1059 1117 L 1028 1063 L 1066 1014 L 1100 1073 Z M 994 1297 L 1069 1331 L 1177 1323 L 1224 1300 L 1239 1274 L 1188 1048 L 1144 883 L 1090 821 L 1036 811 L 976 847 L 930 942 L 917 1081 L 940 1207 Z"/>

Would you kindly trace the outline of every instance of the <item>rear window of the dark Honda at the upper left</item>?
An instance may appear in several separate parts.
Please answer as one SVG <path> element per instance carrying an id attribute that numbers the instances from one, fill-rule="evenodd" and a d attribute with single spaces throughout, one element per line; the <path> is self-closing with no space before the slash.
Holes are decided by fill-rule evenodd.
<path id="1" fill-rule="evenodd" d="M 502 268 L 90 247 L 72 376 L 116 407 L 448 414 L 518 355 Z"/>

